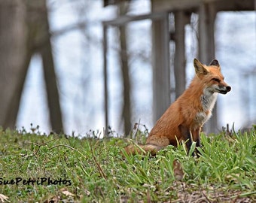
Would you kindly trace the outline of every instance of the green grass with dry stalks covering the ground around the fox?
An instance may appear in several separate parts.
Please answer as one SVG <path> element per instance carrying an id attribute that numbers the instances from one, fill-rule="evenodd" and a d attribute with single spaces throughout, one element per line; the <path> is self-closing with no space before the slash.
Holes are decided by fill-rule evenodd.
<path id="1" fill-rule="evenodd" d="M 202 134 L 198 159 L 187 156 L 183 145 L 154 157 L 124 153 L 124 158 L 127 140 L 121 138 L 2 129 L 0 138 L 0 202 L 1 195 L 9 202 L 256 201 L 255 129 L 243 135 Z M 174 159 L 184 171 L 181 181 L 175 180 Z"/>

